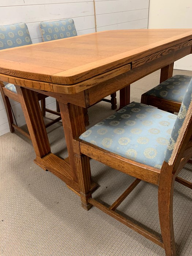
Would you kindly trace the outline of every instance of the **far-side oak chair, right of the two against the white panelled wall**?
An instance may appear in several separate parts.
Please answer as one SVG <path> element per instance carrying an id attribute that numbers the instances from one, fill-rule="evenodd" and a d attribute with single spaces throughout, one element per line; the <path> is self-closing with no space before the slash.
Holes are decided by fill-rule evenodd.
<path id="1" fill-rule="evenodd" d="M 74 37 L 77 35 L 75 23 L 73 19 L 63 19 L 56 21 L 44 21 L 39 23 L 42 38 L 44 42 L 62 39 L 67 37 Z M 110 95 L 111 99 L 102 99 L 102 101 L 111 103 L 111 108 L 117 108 L 116 93 Z M 56 102 L 57 103 L 57 102 Z M 57 111 L 59 111 L 59 105 L 57 103 Z M 89 125 L 89 117 L 87 109 L 84 109 L 84 116 L 86 125 Z"/>

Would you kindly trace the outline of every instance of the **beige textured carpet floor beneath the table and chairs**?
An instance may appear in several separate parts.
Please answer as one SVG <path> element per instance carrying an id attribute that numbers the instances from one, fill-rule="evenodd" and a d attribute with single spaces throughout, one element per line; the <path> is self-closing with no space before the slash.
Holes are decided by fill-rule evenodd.
<path id="1" fill-rule="evenodd" d="M 174 74 L 188 74 L 174 71 Z M 159 71 L 131 86 L 131 101 L 157 85 Z M 91 126 L 114 113 L 109 103 L 89 109 Z M 48 116 L 49 117 L 49 116 Z M 47 129 L 52 152 L 66 157 L 61 122 Z M 32 144 L 19 133 L 0 137 L 0 256 L 159 256 L 164 250 L 113 218 L 92 207 L 85 211 L 79 197 L 50 172 L 35 165 Z M 91 161 L 93 197 L 112 203 L 133 178 Z M 192 165 L 181 177 L 192 181 Z M 157 187 L 140 182 L 118 207 L 148 230 L 160 234 Z M 174 228 L 177 255 L 192 255 L 192 190 L 174 187 Z"/>

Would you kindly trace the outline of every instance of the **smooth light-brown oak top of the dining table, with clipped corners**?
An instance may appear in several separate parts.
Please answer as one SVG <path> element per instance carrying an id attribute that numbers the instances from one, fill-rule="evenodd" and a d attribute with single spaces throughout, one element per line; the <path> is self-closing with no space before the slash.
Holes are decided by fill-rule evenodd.
<path id="1" fill-rule="evenodd" d="M 74 85 L 192 40 L 192 29 L 111 30 L 0 51 L 0 73 Z"/>

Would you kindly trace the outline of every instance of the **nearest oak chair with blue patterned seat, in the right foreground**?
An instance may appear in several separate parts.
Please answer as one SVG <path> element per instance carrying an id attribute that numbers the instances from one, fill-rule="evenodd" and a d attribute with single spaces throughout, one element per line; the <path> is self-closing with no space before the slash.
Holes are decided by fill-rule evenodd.
<path id="1" fill-rule="evenodd" d="M 132 102 L 94 125 L 74 140 L 75 162 L 82 206 L 98 207 L 118 221 L 176 256 L 173 230 L 174 181 L 192 189 L 192 183 L 178 177 L 192 155 L 192 80 L 178 116 L 143 103 Z M 135 177 L 131 186 L 106 207 L 90 192 L 89 158 Z M 158 185 L 158 210 L 162 238 L 145 230 L 115 210 L 141 181 Z"/>

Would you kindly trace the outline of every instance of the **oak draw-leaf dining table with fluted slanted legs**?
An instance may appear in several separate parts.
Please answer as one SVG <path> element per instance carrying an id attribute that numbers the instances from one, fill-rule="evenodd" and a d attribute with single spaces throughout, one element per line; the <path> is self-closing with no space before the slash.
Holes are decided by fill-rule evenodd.
<path id="1" fill-rule="evenodd" d="M 131 83 L 158 69 L 162 82 L 172 76 L 174 61 L 191 53 L 192 29 L 102 31 L 1 50 L 0 80 L 16 85 L 35 163 L 79 193 L 74 138 L 86 130 L 83 108 L 118 90 L 120 108 L 127 105 Z M 59 102 L 65 159 L 50 150 L 37 92 Z M 96 185 L 91 182 L 92 189 Z"/>

